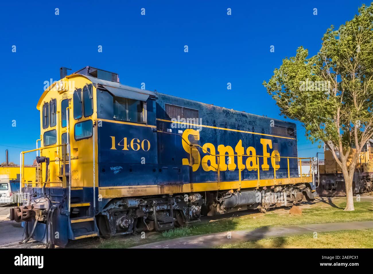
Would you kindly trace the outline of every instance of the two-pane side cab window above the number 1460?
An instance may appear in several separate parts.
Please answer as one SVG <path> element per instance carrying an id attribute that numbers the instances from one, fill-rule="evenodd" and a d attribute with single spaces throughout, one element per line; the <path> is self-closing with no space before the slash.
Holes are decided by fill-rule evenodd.
<path id="1" fill-rule="evenodd" d="M 113 97 L 114 119 L 121 121 L 142 123 L 143 104 L 140 100 Z"/>

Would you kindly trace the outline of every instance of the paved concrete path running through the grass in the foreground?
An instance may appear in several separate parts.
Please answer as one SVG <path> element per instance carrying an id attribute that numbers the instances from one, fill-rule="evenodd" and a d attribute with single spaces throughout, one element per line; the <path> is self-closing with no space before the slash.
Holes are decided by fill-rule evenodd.
<path id="1" fill-rule="evenodd" d="M 228 239 L 228 232 L 220 232 L 148 243 L 146 245 L 134 246 L 132 248 L 213 248 L 215 246 L 230 243 L 260 240 L 269 237 L 353 229 L 373 229 L 373 221 L 261 227 L 260 229 L 254 230 L 232 231 L 231 239 Z"/>

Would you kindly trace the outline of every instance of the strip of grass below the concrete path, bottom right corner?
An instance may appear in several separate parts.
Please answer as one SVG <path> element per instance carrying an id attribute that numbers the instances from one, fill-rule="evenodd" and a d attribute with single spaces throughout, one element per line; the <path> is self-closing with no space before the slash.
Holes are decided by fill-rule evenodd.
<path id="1" fill-rule="evenodd" d="M 373 229 L 312 233 L 233 243 L 217 248 L 373 248 Z"/>

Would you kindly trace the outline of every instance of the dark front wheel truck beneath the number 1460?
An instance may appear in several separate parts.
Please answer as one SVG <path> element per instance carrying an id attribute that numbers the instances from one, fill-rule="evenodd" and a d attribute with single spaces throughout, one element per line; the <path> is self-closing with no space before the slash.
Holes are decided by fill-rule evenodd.
<path id="1" fill-rule="evenodd" d="M 167 230 L 199 221 L 204 200 L 199 193 L 113 199 L 99 215 L 103 236 Z"/>

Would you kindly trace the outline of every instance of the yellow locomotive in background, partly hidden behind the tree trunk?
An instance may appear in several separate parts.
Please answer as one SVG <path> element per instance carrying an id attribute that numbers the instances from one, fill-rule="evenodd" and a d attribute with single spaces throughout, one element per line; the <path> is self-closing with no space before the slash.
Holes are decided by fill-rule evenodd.
<path id="1" fill-rule="evenodd" d="M 351 155 L 356 150 L 351 148 L 348 166 L 351 163 Z M 319 165 L 316 191 L 319 196 L 345 196 L 346 188 L 341 167 L 333 158 L 329 147 L 324 147 L 325 161 Z M 336 151 L 338 155 L 339 152 Z M 354 179 L 352 183 L 354 193 L 373 191 L 373 139 L 364 146 L 357 160 Z"/>

